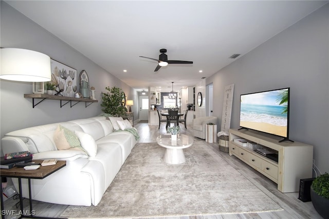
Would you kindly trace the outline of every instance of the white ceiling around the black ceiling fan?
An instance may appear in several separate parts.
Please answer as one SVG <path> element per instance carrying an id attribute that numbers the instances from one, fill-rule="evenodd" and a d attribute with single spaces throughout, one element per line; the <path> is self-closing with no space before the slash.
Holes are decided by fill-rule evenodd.
<path id="1" fill-rule="evenodd" d="M 194 86 L 328 1 L 6 2 L 131 87 L 170 91 L 171 82 Z M 161 48 L 193 64 L 155 73 L 157 62 L 139 56 L 158 59 Z"/>

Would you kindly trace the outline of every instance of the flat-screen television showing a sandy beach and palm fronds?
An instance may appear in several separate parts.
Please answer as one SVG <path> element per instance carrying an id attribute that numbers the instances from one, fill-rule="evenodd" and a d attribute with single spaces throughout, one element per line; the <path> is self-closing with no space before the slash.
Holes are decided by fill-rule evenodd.
<path id="1" fill-rule="evenodd" d="M 287 137 L 288 89 L 241 95 L 240 126 Z"/>

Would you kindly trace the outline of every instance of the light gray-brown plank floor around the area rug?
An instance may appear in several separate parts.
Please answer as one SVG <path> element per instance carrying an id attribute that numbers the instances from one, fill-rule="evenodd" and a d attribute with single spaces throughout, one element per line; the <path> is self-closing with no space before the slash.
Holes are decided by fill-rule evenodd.
<path id="1" fill-rule="evenodd" d="M 163 123 L 158 129 L 156 125 L 148 125 L 148 123 L 138 123 L 135 125 L 140 135 L 139 142 L 156 142 L 156 137 L 166 133 L 166 125 Z M 187 130 L 184 125 L 180 125 L 182 134 L 192 135 L 191 127 L 188 125 Z M 204 141 L 195 138 L 195 141 Z M 277 190 L 277 184 L 253 170 L 241 160 L 234 156 L 229 156 L 228 153 L 221 152 L 218 149 L 217 143 L 208 143 L 214 153 L 219 154 L 225 159 L 232 167 L 249 179 L 255 186 L 260 188 L 266 195 L 274 200 L 284 210 L 260 213 L 244 213 L 244 214 L 216 214 L 216 215 L 194 215 L 194 216 L 181 216 L 181 217 L 161 217 L 168 219 L 204 219 L 204 218 L 322 218 L 314 209 L 312 202 L 303 203 L 298 199 L 298 193 L 281 193 Z M 19 210 L 15 207 L 18 200 L 8 199 L 5 202 L 6 210 Z M 24 200 L 24 206 L 28 209 L 28 200 Z M 66 205 L 55 205 L 33 201 L 33 210 L 38 216 L 59 217 L 59 215 L 66 209 Z M 6 216 L 6 218 L 16 218 L 18 216 Z M 86 215 L 87 217 L 87 215 Z"/>

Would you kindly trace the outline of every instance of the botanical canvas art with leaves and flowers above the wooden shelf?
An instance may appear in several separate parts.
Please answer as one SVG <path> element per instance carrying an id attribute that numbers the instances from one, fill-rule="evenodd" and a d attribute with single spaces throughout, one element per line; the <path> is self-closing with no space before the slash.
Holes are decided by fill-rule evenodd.
<path id="1" fill-rule="evenodd" d="M 57 95 L 74 97 L 77 92 L 77 70 L 51 59 L 51 80 L 57 81 Z M 62 90 L 62 91 L 61 91 Z"/>

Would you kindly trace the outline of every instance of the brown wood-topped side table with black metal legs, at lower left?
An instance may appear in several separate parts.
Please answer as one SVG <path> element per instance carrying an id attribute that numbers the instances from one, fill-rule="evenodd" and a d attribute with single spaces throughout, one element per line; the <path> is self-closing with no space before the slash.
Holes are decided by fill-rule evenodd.
<path id="1" fill-rule="evenodd" d="M 35 163 L 42 163 L 43 160 L 32 160 Z M 19 218 L 49 218 L 49 217 L 40 217 L 34 215 L 24 215 L 24 208 L 23 208 L 23 197 L 22 197 L 22 178 L 28 179 L 29 182 L 29 202 L 30 202 L 30 213 L 32 213 L 32 200 L 31 200 L 31 179 L 43 179 L 50 174 L 62 169 L 66 166 L 65 160 L 58 160 L 56 165 L 40 167 L 36 170 L 25 170 L 24 168 L 17 168 L 14 167 L 12 169 L 1 169 L 0 175 L 1 180 L 3 177 L 12 177 L 19 179 L 19 192 L 20 192 L 20 205 L 21 205 L 21 212 L 23 213 Z M 3 200 L 3 188 L 2 184 L 0 183 L 1 189 L 1 209 L 4 210 L 4 200 Z M 5 218 L 5 214 L 2 214 L 2 218 Z"/>

